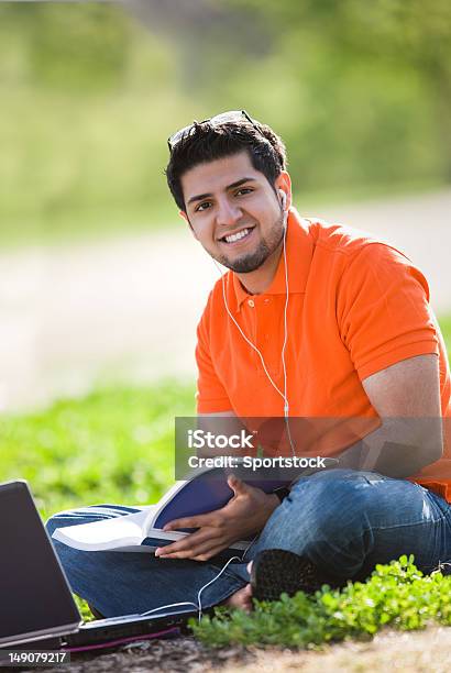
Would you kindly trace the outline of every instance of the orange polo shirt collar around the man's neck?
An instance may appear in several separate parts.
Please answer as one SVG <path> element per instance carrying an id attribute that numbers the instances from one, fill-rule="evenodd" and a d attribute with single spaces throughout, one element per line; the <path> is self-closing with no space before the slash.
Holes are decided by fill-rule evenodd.
<path id="1" fill-rule="evenodd" d="M 309 235 L 309 221 L 302 219 L 295 208 L 289 209 L 286 236 L 289 294 L 306 291 L 314 250 L 311 236 Z M 237 310 L 240 310 L 243 301 L 249 299 L 251 295 L 244 289 L 239 277 L 233 272 L 232 279 L 232 294 L 237 302 Z M 266 291 L 260 296 L 266 295 L 285 295 L 285 265 L 283 252 L 272 284 Z"/>

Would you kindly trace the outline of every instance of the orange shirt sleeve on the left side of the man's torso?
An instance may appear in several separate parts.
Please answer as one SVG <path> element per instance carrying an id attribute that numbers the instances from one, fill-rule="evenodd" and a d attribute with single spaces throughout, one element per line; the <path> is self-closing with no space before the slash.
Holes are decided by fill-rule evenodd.
<path id="1" fill-rule="evenodd" d="M 198 368 L 197 412 L 218 413 L 220 411 L 230 411 L 232 405 L 224 386 L 218 377 L 210 355 L 208 305 L 197 328 L 196 361 Z"/>

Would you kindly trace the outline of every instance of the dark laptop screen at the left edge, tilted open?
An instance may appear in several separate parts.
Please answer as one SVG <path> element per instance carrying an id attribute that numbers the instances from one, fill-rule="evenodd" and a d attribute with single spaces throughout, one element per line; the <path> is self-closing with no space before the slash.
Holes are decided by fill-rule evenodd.
<path id="1" fill-rule="evenodd" d="M 79 621 L 26 483 L 0 485 L 0 644 Z"/>

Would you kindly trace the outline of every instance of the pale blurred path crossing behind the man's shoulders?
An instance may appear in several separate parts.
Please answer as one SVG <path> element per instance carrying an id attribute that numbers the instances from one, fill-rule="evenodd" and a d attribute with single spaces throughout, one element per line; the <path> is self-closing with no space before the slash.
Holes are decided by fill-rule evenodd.
<path id="1" fill-rule="evenodd" d="M 451 309 L 450 213 L 451 190 L 302 212 L 394 242 L 425 272 L 442 312 Z M 0 255 L 0 410 L 84 391 L 105 374 L 194 377 L 195 329 L 217 277 L 182 222 Z"/>

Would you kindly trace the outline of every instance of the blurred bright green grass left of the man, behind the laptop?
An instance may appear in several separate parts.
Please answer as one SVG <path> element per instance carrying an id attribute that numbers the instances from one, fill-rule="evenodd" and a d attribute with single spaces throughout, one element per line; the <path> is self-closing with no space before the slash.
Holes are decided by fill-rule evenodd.
<path id="1" fill-rule="evenodd" d="M 1 479 L 26 478 L 43 517 L 87 504 L 157 500 L 174 482 L 174 417 L 194 389 L 118 386 L 0 420 Z"/>

